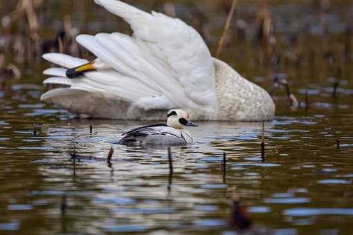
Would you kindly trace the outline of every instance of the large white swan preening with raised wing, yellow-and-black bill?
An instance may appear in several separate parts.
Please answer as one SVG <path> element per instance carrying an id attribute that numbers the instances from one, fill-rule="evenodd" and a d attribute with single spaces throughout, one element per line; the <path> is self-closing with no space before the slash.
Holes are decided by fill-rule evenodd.
<path id="1" fill-rule="evenodd" d="M 44 93 L 44 102 L 91 118 L 163 120 L 165 112 L 175 108 L 187 110 L 192 120 L 273 118 L 270 95 L 212 58 L 199 33 L 180 19 L 150 14 L 122 1 L 96 3 L 125 19 L 134 35 L 79 35 L 78 43 L 96 55 L 93 62 L 43 55 L 64 67 L 44 71 L 53 76 L 44 84 L 70 86 Z"/>

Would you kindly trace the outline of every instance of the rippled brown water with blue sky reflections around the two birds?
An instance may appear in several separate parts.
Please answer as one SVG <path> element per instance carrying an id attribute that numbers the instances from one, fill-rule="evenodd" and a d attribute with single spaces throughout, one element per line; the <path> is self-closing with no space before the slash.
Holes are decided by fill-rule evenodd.
<path id="1" fill-rule="evenodd" d="M 229 232 L 229 203 L 236 192 L 255 232 L 352 232 L 349 96 L 341 93 L 332 102 L 324 92 L 309 111 L 280 109 L 287 114 L 265 124 L 265 161 L 262 124 L 200 123 L 191 129 L 195 144 L 172 147 L 170 178 L 167 149 L 114 144 L 124 131 L 147 123 L 75 120 L 41 104 L 41 89 L 21 84 L 2 98 L 0 231 Z M 73 166 L 73 151 L 94 158 Z"/>

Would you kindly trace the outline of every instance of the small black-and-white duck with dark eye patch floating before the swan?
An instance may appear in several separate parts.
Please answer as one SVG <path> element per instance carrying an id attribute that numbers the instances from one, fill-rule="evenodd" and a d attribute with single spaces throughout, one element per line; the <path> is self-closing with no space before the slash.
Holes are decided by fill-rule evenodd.
<path id="1" fill-rule="evenodd" d="M 176 109 L 168 112 L 167 124 L 141 126 L 123 133 L 118 144 L 192 144 L 192 135 L 184 126 L 197 126 L 188 121 L 187 112 Z"/>

